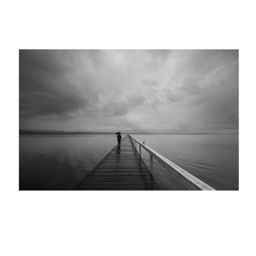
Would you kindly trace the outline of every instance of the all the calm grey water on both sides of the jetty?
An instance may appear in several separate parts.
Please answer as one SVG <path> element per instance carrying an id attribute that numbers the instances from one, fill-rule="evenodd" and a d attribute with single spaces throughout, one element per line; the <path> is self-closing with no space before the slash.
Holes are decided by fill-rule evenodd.
<path id="1" fill-rule="evenodd" d="M 215 189 L 238 190 L 237 134 L 132 136 Z M 72 190 L 116 144 L 116 135 L 20 135 L 20 190 Z M 149 166 L 144 150 L 142 158 Z M 172 176 L 154 167 L 170 190 Z"/>

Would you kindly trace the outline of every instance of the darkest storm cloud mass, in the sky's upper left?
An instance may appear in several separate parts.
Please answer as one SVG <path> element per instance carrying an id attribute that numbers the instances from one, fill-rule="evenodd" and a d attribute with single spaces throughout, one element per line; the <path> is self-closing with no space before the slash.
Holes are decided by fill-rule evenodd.
<path id="1" fill-rule="evenodd" d="M 20 115 L 63 115 L 93 107 L 90 76 L 74 74 L 81 63 L 65 51 L 20 50 Z M 82 82 L 82 85 L 81 85 Z"/>

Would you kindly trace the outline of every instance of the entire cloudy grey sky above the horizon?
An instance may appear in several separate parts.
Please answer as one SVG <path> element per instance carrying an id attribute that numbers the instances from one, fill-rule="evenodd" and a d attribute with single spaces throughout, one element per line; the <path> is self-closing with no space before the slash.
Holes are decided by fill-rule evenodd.
<path id="1" fill-rule="evenodd" d="M 20 129 L 238 133 L 238 50 L 20 50 Z"/>

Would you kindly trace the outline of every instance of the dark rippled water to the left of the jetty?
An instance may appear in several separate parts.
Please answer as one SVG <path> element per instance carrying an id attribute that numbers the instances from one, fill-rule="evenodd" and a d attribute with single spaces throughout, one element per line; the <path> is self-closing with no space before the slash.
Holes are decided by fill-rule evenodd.
<path id="1" fill-rule="evenodd" d="M 73 190 L 115 144 L 115 135 L 20 135 L 20 190 Z"/>

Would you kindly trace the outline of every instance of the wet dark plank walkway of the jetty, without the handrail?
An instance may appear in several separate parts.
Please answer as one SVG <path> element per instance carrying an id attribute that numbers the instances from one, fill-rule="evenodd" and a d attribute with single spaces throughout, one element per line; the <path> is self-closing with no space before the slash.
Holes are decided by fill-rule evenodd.
<path id="1" fill-rule="evenodd" d="M 128 136 L 74 190 L 160 190 Z"/>

